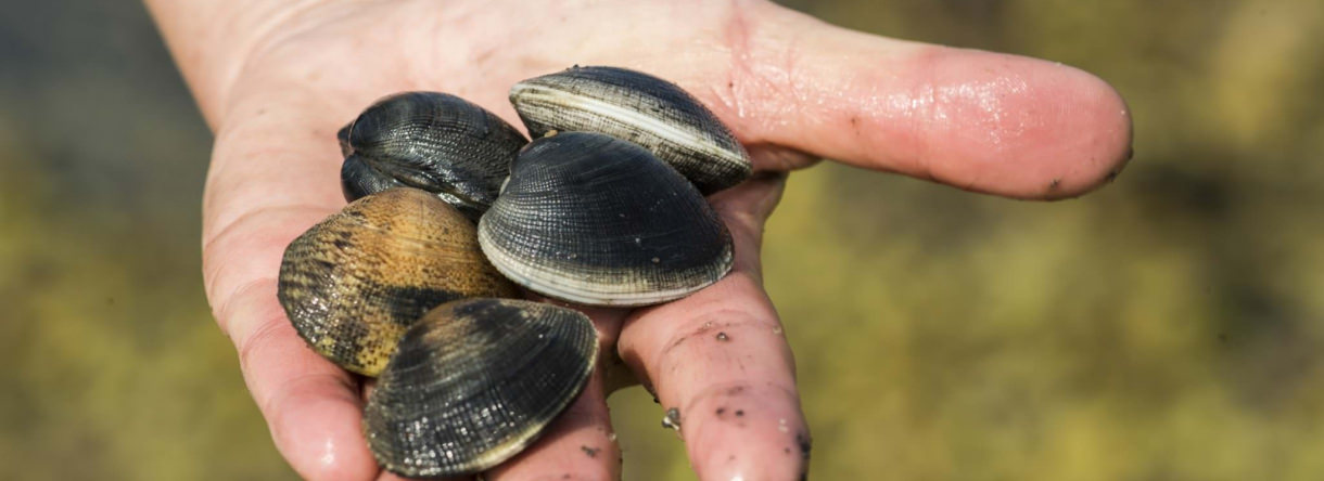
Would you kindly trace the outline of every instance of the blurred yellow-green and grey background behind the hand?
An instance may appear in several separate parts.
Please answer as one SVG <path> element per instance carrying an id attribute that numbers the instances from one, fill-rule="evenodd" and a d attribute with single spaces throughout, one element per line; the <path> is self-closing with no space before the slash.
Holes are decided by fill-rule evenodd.
<path id="1" fill-rule="evenodd" d="M 767 283 L 826 480 L 1324 478 L 1324 3 L 789 1 L 1112 82 L 1037 204 L 824 164 Z M 138 3 L 0 1 L 0 478 L 291 478 L 201 293 L 211 137 Z M 628 480 L 692 478 L 613 398 Z"/>

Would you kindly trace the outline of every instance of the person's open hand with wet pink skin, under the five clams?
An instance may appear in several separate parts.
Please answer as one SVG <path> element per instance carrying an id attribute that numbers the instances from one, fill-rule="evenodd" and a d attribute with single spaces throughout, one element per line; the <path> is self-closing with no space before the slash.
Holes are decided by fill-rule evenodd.
<path id="1" fill-rule="evenodd" d="M 346 204 L 335 131 L 383 95 L 446 91 L 518 126 L 506 100 L 515 82 L 573 63 L 633 67 L 695 94 L 760 170 L 710 197 L 736 240 L 735 271 L 666 305 L 587 309 L 602 334 L 602 369 L 490 480 L 618 477 L 604 398 L 622 378 L 681 411 L 700 478 L 801 477 L 809 432 L 759 267 L 779 172 L 828 157 L 973 192 L 1063 198 L 1129 159 L 1125 104 L 1072 67 L 867 36 L 753 0 L 504 3 L 148 0 L 216 132 L 204 194 L 208 299 L 277 448 L 306 478 L 393 477 L 360 433 L 360 379 L 305 346 L 274 280 L 285 246 Z"/>

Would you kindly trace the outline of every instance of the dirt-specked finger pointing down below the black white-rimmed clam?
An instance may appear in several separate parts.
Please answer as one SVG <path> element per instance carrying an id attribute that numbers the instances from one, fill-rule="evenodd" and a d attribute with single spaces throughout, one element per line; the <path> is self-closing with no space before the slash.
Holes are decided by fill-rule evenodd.
<path id="1" fill-rule="evenodd" d="M 690 297 L 638 311 L 621 332 L 621 355 L 675 410 L 703 480 L 797 480 L 808 465 L 794 362 L 756 266 L 781 182 L 755 178 L 715 196 L 736 242 L 735 271 Z"/>

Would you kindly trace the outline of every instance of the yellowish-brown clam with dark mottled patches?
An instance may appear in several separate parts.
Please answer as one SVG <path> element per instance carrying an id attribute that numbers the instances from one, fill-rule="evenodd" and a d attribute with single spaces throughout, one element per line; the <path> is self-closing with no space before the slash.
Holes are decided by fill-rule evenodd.
<path id="1" fill-rule="evenodd" d="M 285 251 L 277 296 L 314 350 L 376 375 L 405 329 L 461 297 L 514 297 L 483 259 L 474 225 L 409 188 L 360 198 Z"/>

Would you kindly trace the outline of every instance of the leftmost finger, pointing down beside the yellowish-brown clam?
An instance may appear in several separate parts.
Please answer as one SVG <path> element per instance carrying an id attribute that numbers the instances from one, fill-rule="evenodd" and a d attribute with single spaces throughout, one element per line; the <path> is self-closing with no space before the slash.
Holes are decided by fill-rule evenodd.
<path id="1" fill-rule="evenodd" d="M 294 470 L 308 480 L 375 477 L 357 382 L 295 334 L 275 301 L 275 281 L 236 292 L 220 317 L 240 350 L 249 392 Z"/>

